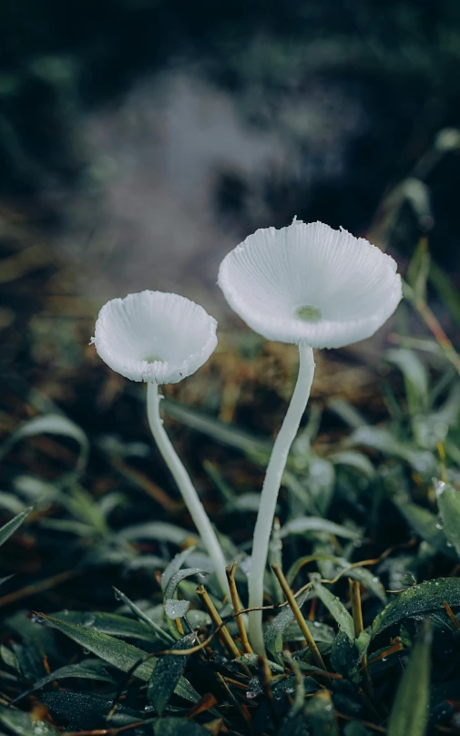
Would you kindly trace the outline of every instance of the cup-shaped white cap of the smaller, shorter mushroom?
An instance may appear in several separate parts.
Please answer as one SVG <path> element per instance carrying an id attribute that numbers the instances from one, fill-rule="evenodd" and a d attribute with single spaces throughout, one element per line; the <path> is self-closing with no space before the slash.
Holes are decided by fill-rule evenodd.
<path id="1" fill-rule="evenodd" d="M 104 304 L 91 342 L 131 381 L 179 383 L 214 352 L 216 328 L 216 320 L 186 297 L 139 291 Z"/>

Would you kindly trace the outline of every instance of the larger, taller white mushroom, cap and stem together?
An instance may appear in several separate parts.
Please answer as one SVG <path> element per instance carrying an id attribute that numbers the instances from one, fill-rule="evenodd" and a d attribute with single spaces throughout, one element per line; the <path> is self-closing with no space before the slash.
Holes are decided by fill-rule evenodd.
<path id="1" fill-rule="evenodd" d="M 252 543 L 250 608 L 259 608 L 281 476 L 312 387 L 312 348 L 373 335 L 402 298 L 401 277 L 393 258 L 367 240 L 294 220 L 281 230 L 257 230 L 231 250 L 220 263 L 219 285 L 255 332 L 299 345 L 299 376 L 271 452 Z M 261 611 L 249 617 L 252 647 L 263 652 Z"/>

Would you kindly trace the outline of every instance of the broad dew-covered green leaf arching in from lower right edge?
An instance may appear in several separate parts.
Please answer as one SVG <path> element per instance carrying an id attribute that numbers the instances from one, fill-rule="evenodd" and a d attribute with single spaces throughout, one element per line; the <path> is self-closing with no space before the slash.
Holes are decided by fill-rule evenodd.
<path id="1" fill-rule="evenodd" d="M 402 590 L 374 619 L 373 637 L 403 618 L 424 618 L 430 611 L 444 608 L 444 600 L 451 608 L 460 606 L 460 578 L 437 578 Z"/>

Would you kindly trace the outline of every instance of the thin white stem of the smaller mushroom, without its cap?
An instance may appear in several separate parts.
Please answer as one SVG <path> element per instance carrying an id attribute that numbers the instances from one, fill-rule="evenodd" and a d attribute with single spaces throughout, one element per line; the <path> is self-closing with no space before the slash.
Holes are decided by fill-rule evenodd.
<path id="1" fill-rule="evenodd" d="M 184 499 L 187 508 L 189 509 L 189 514 L 199 531 L 201 542 L 214 565 L 214 571 L 219 580 L 220 588 L 222 588 L 222 592 L 225 595 L 230 596 L 229 583 L 225 572 L 225 557 L 223 556 L 216 533 L 210 524 L 210 519 L 190 480 L 189 474 L 184 465 L 182 465 L 179 455 L 176 453 L 176 450 L 172 446 L 169 436 L 166 434 L 165 428 L 163 427 L 163 420 L 159 414 L 160 398 L 161 397 L 158 395 L 157 384 L 148 383 L 147 413 L 151 433 L 158 445 L 159 452 L 163 455 L 166 465 L 168 465 L 174 480 L 179 486 L 179 491 L 182 494 L 182 498 Z"/>

